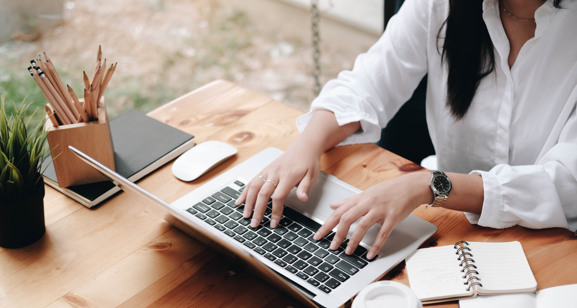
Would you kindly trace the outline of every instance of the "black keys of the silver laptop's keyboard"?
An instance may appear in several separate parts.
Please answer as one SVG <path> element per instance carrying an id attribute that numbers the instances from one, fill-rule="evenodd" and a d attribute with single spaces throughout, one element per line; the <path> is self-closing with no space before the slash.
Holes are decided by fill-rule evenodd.
<path id="1" fill-rule="evenodd" d="M 345 254 L 348 239 L 336 250 L 330 250 L 335 233 L 314 240 L 313 235 L 321 225 L 290 207 L 284 207 L 283 218 L 272 229 L 271 199 L 260 225 L 250 227 L 251 218 L 242 217 L 244 205 L 234 204 L 245 184 L 241 181 L 234 184 L 241 189 L 224 187 L 186 211 L 321 291 L 331 292 L 378 257 L 367 259 L 367 249 L 360 245 L 353 254 Z"/>

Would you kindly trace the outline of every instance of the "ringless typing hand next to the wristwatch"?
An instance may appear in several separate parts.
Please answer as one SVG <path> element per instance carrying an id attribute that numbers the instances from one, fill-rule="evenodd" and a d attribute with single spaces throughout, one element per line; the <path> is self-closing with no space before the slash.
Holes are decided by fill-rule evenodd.
<path id="1" fill-rule="evenodd" d="M 429 188 L 429 172 L 413 172 L 373 185 L 361 194 L 332 203 L 331 216 L 314 235 L 318 240 L 326 236 L 338 225 L 331 249 L 335 250 L 346 239 L 351 224 L 363 217 L 357 224 L 347 248 L 346 254 L 352 254 L 361 243 L 366 231 L 374 224 L 382 227 L 366 257 L 372 259 L 379 253 L 391 231 L 404 220 L 411 211 L 424 203 L 431 203 L 433 193 Z"/>

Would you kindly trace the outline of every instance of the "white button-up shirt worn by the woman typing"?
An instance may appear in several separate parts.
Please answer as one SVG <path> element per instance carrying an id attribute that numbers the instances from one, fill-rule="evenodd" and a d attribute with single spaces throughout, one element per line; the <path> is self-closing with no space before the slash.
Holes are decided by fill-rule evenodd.
<path id="1" fill-rule="evenodd" d="M 439 51 L 448 0 L 407 0 L 386 31 L 351 71 L 329 81 L 312 112 L 331 110 L 339 125 L 360 121 L 361 131 L 339 145 L 377 142 L 381 128 L 428 73 L 426 119 L 440 170 L 481 175 L 485 199 L 471 223 L 493 228 L 577 229 L 577 1 L 563 9 L 547 1 L 535 12 L 535 37 L 509 69 L 509 41 L 499 1 L 485 0 L 483 19 L 496 68 L 485 77 L 466 116 L 445 106 L 447 66 Z M 450 196 L 449 196 L 450 198 Z"/>

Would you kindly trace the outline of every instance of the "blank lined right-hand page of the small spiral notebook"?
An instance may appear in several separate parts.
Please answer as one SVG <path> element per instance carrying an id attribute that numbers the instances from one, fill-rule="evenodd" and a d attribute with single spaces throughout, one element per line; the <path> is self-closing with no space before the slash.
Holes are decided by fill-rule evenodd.
<path id="1" fill-rule="evenodd" d="M 531 292 L 537 281 L 519 242 L 469 242 L 478 276 L 480 294 Z"/>

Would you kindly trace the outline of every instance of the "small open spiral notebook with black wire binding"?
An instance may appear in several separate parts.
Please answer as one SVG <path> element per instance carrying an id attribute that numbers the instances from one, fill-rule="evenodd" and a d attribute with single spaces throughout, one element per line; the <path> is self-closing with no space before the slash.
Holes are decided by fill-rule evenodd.
<path id="1" fill-rule="evenodd" d="M 411 289 L 423 303 L 538 290 L 519 242 L 461 241 L 417 249 L 405 261 Z"/>

